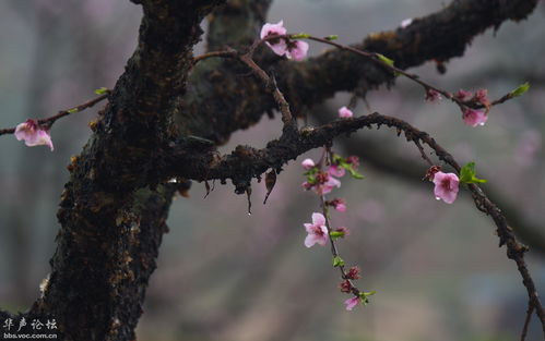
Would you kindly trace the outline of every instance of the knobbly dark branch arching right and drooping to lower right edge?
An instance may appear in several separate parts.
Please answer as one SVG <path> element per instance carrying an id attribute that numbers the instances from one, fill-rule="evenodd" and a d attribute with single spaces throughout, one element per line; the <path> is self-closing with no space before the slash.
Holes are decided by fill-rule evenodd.
<path id="1" fill-rule="evenodd" d="M 461 167 L 454 158 L 426 132 L 422 132 L 400 119 L 375 112 L 359 118 L 336 120 L 316 129 L 284 130 L 279 139 L 270 142 L 263 149 L 238 146 L 230 155 L 222 158 L 215 154 L 209 154 L 204 157 L 201 155 L 197 159 L 194 155 L 189 155 L 188 159 L 187 148 L 182 148 L 181 154 L 180 150 L 173 150 L 173 159 L 167 160 L 169 165 L 167 173 L 199 181 L 220 179 L 222 183 L 225 183 L 226 179 L 232 179 L 236 192 L 242 194 L 250 186 L 251 179 L 260 178 L 268 169 L 272 168 L 280 172 L 284 163 L 297 158 L 297 156 L 312 148 L 328 145 L 339 135 L 351 134 L 363 127 L 371 129 L 372 125 L 395 127 L 398 135 L 403 133 L 407 142 L 413 142 L 420 153 L 424 153 L 420 146 L 423 143 L 430 147 L 440 160 L 460 172 Z M 194 168 L 188 167 L 188 165 Z M 517 241 L 501 210 L 484 194 L 481 187 L 476 184 L 469 184 L 467 187 L 477 209 L 494 220 L 499 246 L 506 245 L 508 258 L 517 263 L 528 291 L 529 301 L 542 321 L 545 334 L 545 312 L 524 261 L 524 253 L 528 252 L 528 247 Z"/>

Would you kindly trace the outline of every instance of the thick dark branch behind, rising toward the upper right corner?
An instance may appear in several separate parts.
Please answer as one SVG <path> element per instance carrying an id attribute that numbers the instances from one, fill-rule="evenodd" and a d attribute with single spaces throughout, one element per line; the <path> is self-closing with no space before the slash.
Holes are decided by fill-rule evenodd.
<path id="1" fill-rule="evenodd" d="M 534 10 L 536 0 L 457 0 L 443 10 L 413 20 L 405 28 L 372 34 L 357 49 L 380 52 L 401 69 L 426 61 L 447 61 L 461 57 L 473 38 L 501 23 L 520 21 Z M 257 34 L 256 34 L 257 36 Z M 393 78 L 375 62 L 347 51 L 331 50 L 305 62 L 281 61 L 261 51 L 257 62 L 262 69 L 274 66 L 279 87 L 301 115 L 307 107 L 331 98 L 336 92 L 365 93 Z M 199 63 L 190 78 L 186 112 L 180 120 L 199 118 L 188 131 L 197 136 L 224 143 L 230 133 L 259 122 L 274 102 L 244 76 L 244 71 L 217 60 Z M 233 118 L 237 118 L 237 124 Z"/>

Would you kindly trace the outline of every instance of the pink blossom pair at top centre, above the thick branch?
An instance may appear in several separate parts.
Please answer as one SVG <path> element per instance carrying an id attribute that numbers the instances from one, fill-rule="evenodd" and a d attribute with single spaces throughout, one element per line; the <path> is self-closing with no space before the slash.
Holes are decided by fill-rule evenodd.
<path id="1" fill-rule="evenodd" d="M 287 33 L 284 21 L 276 24 L 264 24 L 261 28 L 261 39 L 272 36 L 285 36 Z M 288 59 L 300 61 L 305 59 L 308 51 L 308 44 L 301 40 L 294 40 L 287 37 L 279 37 L 266 40 L 265 44 L 279 56 L 286 56 Z"/>

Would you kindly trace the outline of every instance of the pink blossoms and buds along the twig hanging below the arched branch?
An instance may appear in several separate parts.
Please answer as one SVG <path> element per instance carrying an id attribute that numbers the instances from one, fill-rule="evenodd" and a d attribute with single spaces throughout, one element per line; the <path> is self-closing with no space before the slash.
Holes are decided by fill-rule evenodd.
<path id="1" fill-rule="evenodd" d="M 349 111 L 349 109 L 345 107 L 341 108 L 339 112 L 340 115 L 342 117 L 342 111 L 346 110 Z M 349 115 L 346 115 L 345 118 L 349 117 L 352 117 L 352 111 L 349 111 Z M 323 195 L 330 193 L 333 187 L 341 186 L 341 181 L 337 178 L 343 178 L 346 172 L 349 172 L 354 178 L 363 178 L 356 172 L 356 169 L 359 167 L 359 160 L 357 157 L 352 156 L 343 158 L 339 155 L 332 154 L 327 171 L 322 170 L 322 162 L 323 159 L 318 165 L 316 165 L 312 159 L 305 159 L 301 162 L 301 166 L 305 169 L 305 175 L 307 176 L 307 181 L 303 183 L 303 187 L 305 190 L 313 190 L 319 196 L 322 197 L 322 204 L 324 206 L 324 214 L 313 212 L 312 222 L 304 223 L 305 230 L 307 231 L 307 236 L 305 239 L 305 246 L 307 247 L 311 247 L 316 244 L 325 246 L 328 241 L 334 243 L 335 239 L 344 238 L 349 234 L 348 229 L 345 227 L 331 229 L 328 226 L 327 218 L 324 217 L 328 212 L 328 207 L 333 207 L 337 211 L 344 212 L 346 210 L 346 202 L 343 198 L 325 200 Z M 342 260 L 336 252 L 333 253 L 333 266 L 341 267 L 343 273 L 343 281 L 339 285 L 341 291 L 353 294 L 353 297 L 344 302 L 346 309 L 352 310 L 359 303 L 366 304 L 367 296 L 371 295 L 374 292 L 360 292 L 352 284 L 353 280 L 359 279 L 359 268 L 352 267 L 345 271 L 344 260 Z"/>

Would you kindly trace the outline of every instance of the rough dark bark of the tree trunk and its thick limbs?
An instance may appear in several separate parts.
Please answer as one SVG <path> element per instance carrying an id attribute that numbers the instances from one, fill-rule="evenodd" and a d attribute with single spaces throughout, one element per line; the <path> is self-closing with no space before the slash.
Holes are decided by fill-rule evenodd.
<path id="1" fill-rule="evenodd" d="M 366 125 L 362 120 L 358 126 L 327 125 L 307 137 L 285 134 L 265 151 L 241 147 L 220 159 L 218 144 L 275 109 L 259 80 L 236 77 L 247 72 L 239 63 L 210 59 L 193 69 L 199 25 L 224 0 L 132 2 L 143 8 L 137 50 L 88 143 L 69 165 L 50 279 L 43 296 L 21 315 L 55 317 L 63 340 L 135 339 L 170 200 L 180 186 L 166 183 L 168 178 L 232 179 L 244 192 L 248 180 L 266 169 L 280 171 L 303 151 Z M 209 49 L 251 44 L 270 3 L 236 0 L 217 9 L 210 17 Z M 371 35 L 356 46 L 383 53 L 403 69 L 447 61 L 462 56 L 475 35 L 524 19 L 535 4 L 453 1 L 406 28 Z M 393 82 L 375 63 L 346 51 L 293 63 L 261 49 L 256 60 L 265 70 L 274 68 L 279 87 L 299 117 L 336 92 L 365 94 Z M 261 163 L 247 162 L 254 156 Z M 0 318 L 7 317 L 0 312 Z"/>

